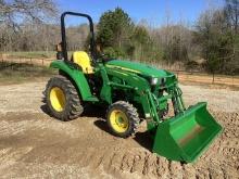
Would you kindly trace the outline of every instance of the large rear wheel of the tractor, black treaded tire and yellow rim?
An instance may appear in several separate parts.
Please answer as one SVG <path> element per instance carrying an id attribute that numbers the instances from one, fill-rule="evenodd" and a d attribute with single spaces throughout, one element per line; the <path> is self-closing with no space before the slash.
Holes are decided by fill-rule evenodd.
<path id="1" fill-rule="evenodd" d="M 77 90 L 64 76 L 48 81 L 45 102 L 50 115 L 64 122 L 77 118 L 84 111 Z"/>

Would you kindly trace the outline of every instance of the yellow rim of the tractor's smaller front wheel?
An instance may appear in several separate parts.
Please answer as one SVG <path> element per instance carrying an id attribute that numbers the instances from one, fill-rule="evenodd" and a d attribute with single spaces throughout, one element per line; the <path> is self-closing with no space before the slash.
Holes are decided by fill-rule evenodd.
<path id="1" fill-rule="evenodd" d="M 125 132 L 129 126 L 127 116 L 120 110 L 111 112 L 110 122 L 116 132 Z"/>

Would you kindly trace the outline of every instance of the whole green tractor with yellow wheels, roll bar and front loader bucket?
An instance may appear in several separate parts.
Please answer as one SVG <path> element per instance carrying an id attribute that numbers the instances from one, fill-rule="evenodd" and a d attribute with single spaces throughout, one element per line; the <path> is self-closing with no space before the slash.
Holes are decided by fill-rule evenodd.
<path id="1" fill-rule="evenodd" d="M 89 21 L 89 54 L 76 51 L 68 60 L 66 15 Z M 86 104 L 106 105 L 106 124 L 113 135 L 127 138 L 146 120 L 154 140 L 152 152 L 186 163 L 198 158 L 223 130 L 207 112 L 205 102 L 186 108 L 173 73 L 136 62 L 99 57 L 89 15 L 63 13 L 61 30 L 58 60 L 50 65 L 59 69 L 59 76 L 48 81 L 45 91 L 53 117 L 71 120 L 80 116 Z M 173 106 L 173 117 L 167 117 L 168 106 Z"/>

